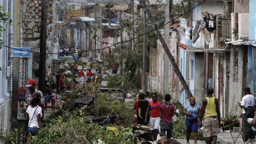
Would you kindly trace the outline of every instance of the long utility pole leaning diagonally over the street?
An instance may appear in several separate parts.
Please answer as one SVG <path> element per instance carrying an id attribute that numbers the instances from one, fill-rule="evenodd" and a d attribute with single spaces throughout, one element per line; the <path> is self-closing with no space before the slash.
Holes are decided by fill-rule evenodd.
<path id="1" fill-rule="evenodd" d="M 185 81 L 185 79 L 183 78 L 179 68 L 178 68 L 178 65 L 176 64 L 174 58 L 173 58 L 173 55 L 171 54 L 171 52 L 169 51 L 169 48 L 168 46 L 166 45 L 160 31 L 158 30 L 158 26 L 157 24 L 155 23 L 150 11 L 148 10 L 147 8 L 147 5 L 145 4 L 145 2 L 143 0 L 139 0 L 139 2 L 141 3 L 141 6 L 145 9 L 147 15 L 148 15 L 148 19 L 150 20 L 152 26 L 154 26 L 154 29 L 156 31 L 156 35 L 158 36 L 158 39 L 160 40 L 162 46 L 163 46 L 163 49 L 165 50 L 167 56 L 169 57 L 170 59 L 170 62 L 171 62 L 171 65 L 173 66 L 173 69 L 174 69 L 174 72 L 176 73 L 176 75 L 178 76 L 178 78 L 180 79 L 180 82 L 182 83 L 182 86 L 184 87 L 185 91 L 186 91 L 186 94 L 187 96 L 190 98 L 192 96 L 191 94 L 191 91 L 189 90 L 189 87 Z"/>

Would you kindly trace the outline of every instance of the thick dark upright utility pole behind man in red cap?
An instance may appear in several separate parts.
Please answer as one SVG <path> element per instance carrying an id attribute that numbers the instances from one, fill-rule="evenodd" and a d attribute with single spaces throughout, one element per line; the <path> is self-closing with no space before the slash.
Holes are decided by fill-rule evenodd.
<path id="1" fill-rule="evenodd" d="M 45 62 L 46 62 L 46 40 L 47 40 L 47 9 L 48 9 L 48 0 L 42 0 L 38 89 L 41 92 L 43 92 L 43 94 L 45 94 L 45 73 L 46 73 Z"/>

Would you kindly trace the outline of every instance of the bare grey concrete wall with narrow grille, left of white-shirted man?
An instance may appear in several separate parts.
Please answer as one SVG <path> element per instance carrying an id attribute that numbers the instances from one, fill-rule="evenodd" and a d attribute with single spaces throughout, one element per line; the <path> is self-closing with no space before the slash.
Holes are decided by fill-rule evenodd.
<path id="1" fill-rule="evenodd" d="M 230 85 L 229 85 L 229 96 L 228 96 L 228 112 L 234 112 L 241 114 L 241 108 L 237 105 L 236 100 L 241 101 L 243 95 L 243 48 L 242 46 L 237 46 L 238 50 L 238 80 L 234 82 L 234 50 L 232 47 L 230 50 Z M 246 66 L 246 65 L 245 65 Z"/>

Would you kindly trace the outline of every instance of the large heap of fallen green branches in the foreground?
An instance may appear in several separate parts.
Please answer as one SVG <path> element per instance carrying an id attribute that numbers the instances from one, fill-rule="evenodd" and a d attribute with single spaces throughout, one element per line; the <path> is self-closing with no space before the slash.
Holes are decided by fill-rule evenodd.
<path id="1" fill-rule="evenodd" d="M 31 144 L 92 144 L 100 139 L 106 144 L 133 144 L 134 137 L 128 137 L 131 127 L 113 126 L 110 130 L 107 126 L 87 124 L 77 114 L 79 111 L 69 113 L 68 116 L 58 116 L 56 119 L 41 129 L 37 136 L 29 142 Z"/>

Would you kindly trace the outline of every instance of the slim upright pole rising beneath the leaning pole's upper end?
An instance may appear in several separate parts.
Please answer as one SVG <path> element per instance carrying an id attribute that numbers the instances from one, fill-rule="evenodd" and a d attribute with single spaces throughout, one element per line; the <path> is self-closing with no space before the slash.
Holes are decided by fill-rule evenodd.
<path id="1" fill-rule="evenodd" d="M 146 11 L 143 9 L 143 33 L 146 33 Z M 143 35 L 142 90 L 146 91 L 146 35 Z"/>

